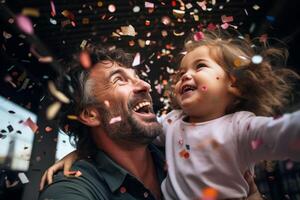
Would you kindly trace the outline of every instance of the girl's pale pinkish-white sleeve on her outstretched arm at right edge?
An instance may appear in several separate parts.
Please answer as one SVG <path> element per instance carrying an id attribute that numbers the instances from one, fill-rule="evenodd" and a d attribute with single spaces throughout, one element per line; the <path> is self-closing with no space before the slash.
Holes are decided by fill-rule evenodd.
<path id="1" fill-rule="evenodd" d="M 278 118 L 245 113 L 234 120 L 240 157 L 247 164 L 287 158 L 300 161 L 300 111 Z"/>

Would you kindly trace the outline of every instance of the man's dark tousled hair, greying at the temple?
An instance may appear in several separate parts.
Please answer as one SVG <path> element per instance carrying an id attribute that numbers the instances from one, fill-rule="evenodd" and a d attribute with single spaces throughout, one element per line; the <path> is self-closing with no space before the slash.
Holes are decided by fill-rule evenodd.
<path id="1" fill-rule="evenodd" d="M 84 51 L 91 60 L 91 67 L 84 68 L 79 60 L 80 53 Z M 79 157 L 92 156 L 97 149 L 89 133 L 89 127 L 76 120 L 86 107 L 97 105 L 87 81 L 93 66 L 102 61 L 117 62 L 120 66 L 130 67 L 133 57 L 121 49 L 102 47 L 100 45 L 87 45 L 81 52 L 74 54 L 70 61 L 64 61 L 60 76 L 57 80 L 58 87 L 71 99 L 58 114 L 59 128 L 70 136 L 70 142 L 77 148 Z"/>

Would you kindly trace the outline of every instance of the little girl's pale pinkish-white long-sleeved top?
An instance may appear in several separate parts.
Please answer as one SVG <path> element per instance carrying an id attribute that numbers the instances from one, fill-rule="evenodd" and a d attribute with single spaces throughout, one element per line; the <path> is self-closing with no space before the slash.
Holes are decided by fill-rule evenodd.
<path id="1" fill-rule="evenodd" d="M 241 111 L 202 122 L 183 121 L 174 110 L 163 120 L 168 175 L 162 183 L 165 199 L 199 199 L 212 187 L 218 199 L 246 197 L 243 177 L 260 160 L 300 160 L 300 111 L 280 118 L 257 117 Z"/>

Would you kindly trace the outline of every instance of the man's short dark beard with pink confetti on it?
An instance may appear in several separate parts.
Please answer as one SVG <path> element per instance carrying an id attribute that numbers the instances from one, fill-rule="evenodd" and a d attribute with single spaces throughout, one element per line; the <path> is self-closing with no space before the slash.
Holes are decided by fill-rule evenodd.
<path id="1" fill-rule="evenodd" d="M 141 121 L 134 117 L 132 110 L 125 109 L 121 105 L 110 109 L 105 105 L 100 105 L 98 111 L 101 113 L 101 124 L 104 130 L 115 141 L 144 145 L 150 144 L 162 134 L 162 126 L 156 118 Z M 110 120 L 116 116 L 120 116 L 121 121 L 111 124 Z"/>

